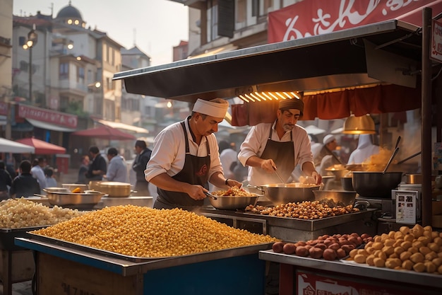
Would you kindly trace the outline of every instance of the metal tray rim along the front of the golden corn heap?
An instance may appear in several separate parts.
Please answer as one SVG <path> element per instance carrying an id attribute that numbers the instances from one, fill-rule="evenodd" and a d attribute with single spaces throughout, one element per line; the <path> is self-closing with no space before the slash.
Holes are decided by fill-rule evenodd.
<path id="1" fill-rule="evenodd" d="M 98 248 L 92 248 L 86 245 L 80 245 L 77 243 L 71 243 L 67 241 L 62 241 L 56 238 L 49 238 L 47 236 L 41 236 L 37 235 L 35 233 L 29 233 L 30 240 L 34 241 L 40 241 L 43 243 L 50 243 L 53 245 L 59 245 L 65 248 L 71 248 L 76 250 L 84 251 L 85 253 L 91 253 L 91 254 L 97 254 L 97 255 L 104 255 L 108 258 L 117 258 L 121 260 L 131 261 L 131 262 L 150 262 L 154 260 L 166 260 L 166 259 L 176 259 L 176 258 L 191 258 L 192 256 L 196 255 L 205 255 L 210 254 L 214 257 L 217 255 L 222 255 L 222 257 L 232 257 L 235 256 L 235 253 L 238 251 L 241 251 L 242 249 L 246 250 L 256 250 L 256 253 L 260 250 L 268 250 L 272 248 L 273 243 L 265 243 L 265 244 L 258 244 L 258 245 L 249 245 L 244 247 L 238 247 L 238 248 L 229 248 L 229 249 L 223 249 L 223 250 L 217 250 L 217 251 L 211 251 L 211 252 L 202 252 L 202 253 L 193 253 L 189 255 L 181 255 L 181 256 L 165 256 L 165 257 L 138 257 L 138 256 L 129 256 L 129 255 L 123 255 L 119 253 L 110 252 L 107 250 L 101 250 Z"/>

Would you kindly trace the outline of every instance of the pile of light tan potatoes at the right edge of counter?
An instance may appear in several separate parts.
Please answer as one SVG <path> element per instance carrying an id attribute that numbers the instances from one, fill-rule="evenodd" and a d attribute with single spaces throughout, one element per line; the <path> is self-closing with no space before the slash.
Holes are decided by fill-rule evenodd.
<path id="1" fill-rule="evenodd" d="M 399 231 L 375 236 L 363 249 L 351 250 L 348 260 L 394 270 L 442 274 L 442 233 L 433 231 L 431 226 L 401 226 Z"/>

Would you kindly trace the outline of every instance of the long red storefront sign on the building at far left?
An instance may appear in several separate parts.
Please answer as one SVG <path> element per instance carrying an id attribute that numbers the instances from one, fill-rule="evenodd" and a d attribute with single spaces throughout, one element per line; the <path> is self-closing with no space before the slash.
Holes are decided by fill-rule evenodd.
<path id="1" fill-rule="evenodd" d="M 39 120 L 70 128 L 76 128 L 78 122 L 76 115 L 56 112 L 54 110 L 35 108 L 30 105 L 18 105 L 18 117 Z"/>

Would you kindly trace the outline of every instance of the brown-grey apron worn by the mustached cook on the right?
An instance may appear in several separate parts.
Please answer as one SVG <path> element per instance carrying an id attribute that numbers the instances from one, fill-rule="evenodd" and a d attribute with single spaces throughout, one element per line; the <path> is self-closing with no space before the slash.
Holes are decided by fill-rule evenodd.
<path id="1" fill-rule="evenodd" d="M 268 160 L 271 158 L 275 162 L 277 172 L 281 175 L 282 179 L 287 182 L 290 175 L 294 170 L 294 146 L 293 146 L 293 133 L 290 132 L 290 141 L 280 142 L 272 140 L 273 128 L 270 127 L 270 135 L 265 144 L 265 149 L 261 158 Z M 270 183 L 281 183 L 281 180 L 275 175 L 275 173 L 267 173 L 264 170 L 257 169 L 256 171 L 261 179 L 267 179 L 268 183 L 261 183 L 261 185 Z"/>

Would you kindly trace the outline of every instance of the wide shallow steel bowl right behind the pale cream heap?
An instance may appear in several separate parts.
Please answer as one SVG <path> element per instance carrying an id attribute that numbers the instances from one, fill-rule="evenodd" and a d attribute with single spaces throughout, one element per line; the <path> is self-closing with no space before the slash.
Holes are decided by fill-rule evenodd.
<path id="1" fill-rule="evenodd" d="M 48 192 L 49 204 L 57 206 L 97 204 L 106 194 L 104 192 Z"/>

